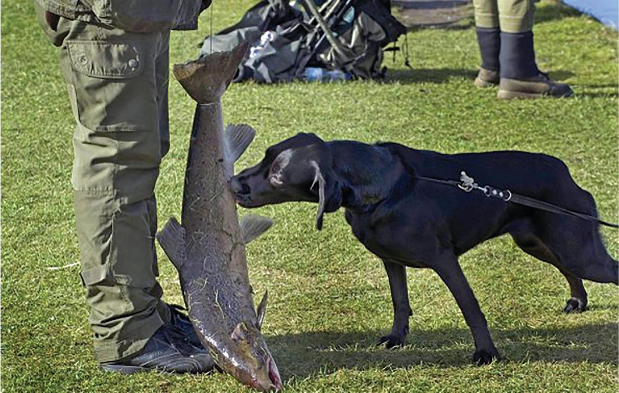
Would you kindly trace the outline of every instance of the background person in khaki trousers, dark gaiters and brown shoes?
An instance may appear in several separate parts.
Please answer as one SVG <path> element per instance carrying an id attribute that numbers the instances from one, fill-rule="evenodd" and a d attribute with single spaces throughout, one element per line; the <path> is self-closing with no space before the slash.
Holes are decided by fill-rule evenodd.
<path id="1" fill-rule="evenodd" d="M 498 98 L 555 98 L 572 95 L 535 64 L 534 0 L 473 0 L 482 65 L 475 85 L 499 86 Z"/>

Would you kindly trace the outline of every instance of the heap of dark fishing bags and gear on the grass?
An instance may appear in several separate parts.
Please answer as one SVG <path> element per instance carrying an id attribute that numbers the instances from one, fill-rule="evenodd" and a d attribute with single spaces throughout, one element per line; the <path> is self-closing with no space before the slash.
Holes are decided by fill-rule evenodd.
<path id="1" fill-rule="evenodd" d="M 382 78 L 383 50 L 406 32 L 389 0 L 315 0 L 328 34 L 305 1 L 262 0 L 240 22 L 207 36 L 200 56 L 251 43 L 235 82 L 289 82 L 306 69 L 337 70 L 346 78 Z M 330 37 L 330 36 L 331 37 Z M 331 39 L 331 40 L 330 40 Z M 337 40 L 336 45 L 332 40 Z"/>

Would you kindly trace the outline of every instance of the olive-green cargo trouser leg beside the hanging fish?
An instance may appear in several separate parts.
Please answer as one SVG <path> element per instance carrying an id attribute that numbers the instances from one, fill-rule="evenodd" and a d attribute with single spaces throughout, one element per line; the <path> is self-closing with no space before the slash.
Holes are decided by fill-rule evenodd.
<path id="1" fill-rule="evenodd" d="M 81 275 L 95 356 L 111 361 L 141 350 L 169 319 L 154 248 L 154 188 L 169 146 L 169 33 L 61 19 L 63 29 L 61 66 L 77 122 L 72 184 Z"/>

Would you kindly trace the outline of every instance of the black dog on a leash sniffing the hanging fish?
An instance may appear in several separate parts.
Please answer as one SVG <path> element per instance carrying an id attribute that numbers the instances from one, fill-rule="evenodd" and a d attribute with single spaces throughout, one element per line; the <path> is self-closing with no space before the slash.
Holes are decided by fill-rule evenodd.
<path id="1" fill-rule="evenodd" d="M 458 264 L 484 240 L 509 233 L 522 250 L 553 264 L 571 298 L 565 312 L 584 311 L 582 279 L 618 283 L 597 222 L 550 213 L 425 181 L 458 179 L 462 171 L 496 188 L 597 216 L 591 194 L 578 187 L 559 159 L 521 151 L 441 154 L 397 143 L 324 142 L 311 133 L 271 146 L 261 163 L 231 180 L 241 206 L 318 202 L 322 215 L 345 208 L 353 234 L 383 260 L 394 307 L 387 347 L 404 344 L 411 310 L 405 267 L 431 268 L 449 287 L 475 340 L 473 361 L 498 358 L 486 319 Z"/>

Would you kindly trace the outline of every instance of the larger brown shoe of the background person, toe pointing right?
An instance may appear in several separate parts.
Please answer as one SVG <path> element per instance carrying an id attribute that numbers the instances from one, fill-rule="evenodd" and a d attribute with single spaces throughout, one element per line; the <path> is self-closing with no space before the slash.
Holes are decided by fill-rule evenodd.
<path id="1" fill-rule="evenodd" d="M 567 83 L 555 82 L 543 72 L 536 77 L 512 79 L 501 78 L 497 97 L 500 99 L 514 98 L 563 98 L 573 94 Z"/>

